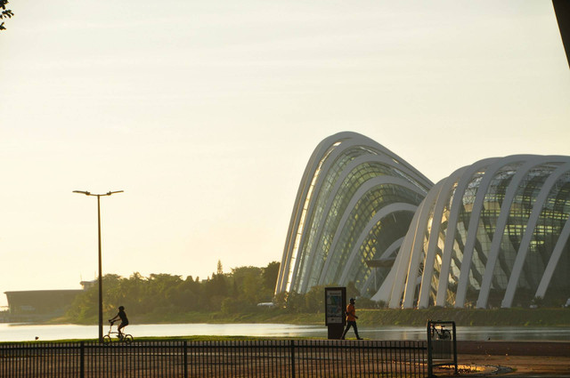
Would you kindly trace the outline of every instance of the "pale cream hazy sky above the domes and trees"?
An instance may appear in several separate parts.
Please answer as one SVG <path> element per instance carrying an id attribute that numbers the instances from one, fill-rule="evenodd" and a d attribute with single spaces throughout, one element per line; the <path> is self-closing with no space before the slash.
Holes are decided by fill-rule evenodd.
<path id="1" fill-rule="evenodd" d="M 548 0 L 12 0 L 0 32 L 0 306 L 97 274 L 281 261 L 298 184 L 362 133 L 434 182 L 570 155 Z"/>

